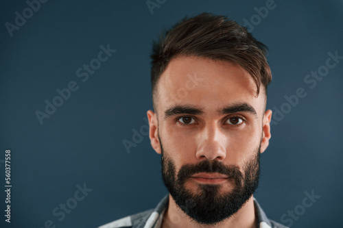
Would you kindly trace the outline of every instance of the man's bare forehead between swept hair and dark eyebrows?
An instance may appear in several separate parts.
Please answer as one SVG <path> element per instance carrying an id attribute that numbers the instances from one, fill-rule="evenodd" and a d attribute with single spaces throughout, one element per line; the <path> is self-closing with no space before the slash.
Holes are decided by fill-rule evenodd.
<path id="1" fill-rule="evenodd" d="M 199 57 L 171 60 L 158 80 L 158 110 L 175 105 L 198 105 L 211 112 L 223 105 L 248 103 L 258 113 L 264 107 L 264 90 L 256 97 L 256 84 L 241 66 Z M 156 110 L 157 111 L 157 110 Z"/>

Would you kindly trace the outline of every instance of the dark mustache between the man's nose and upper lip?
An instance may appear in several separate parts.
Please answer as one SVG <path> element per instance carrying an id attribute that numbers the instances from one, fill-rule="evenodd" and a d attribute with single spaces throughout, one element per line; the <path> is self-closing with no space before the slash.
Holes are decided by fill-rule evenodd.
<path id="1" fill-rule="evenodd" d="M 220 173 L 228 176 L 236 181 L 237 184 L 241 183 L 244 176 L 237 166 L 226 166 L 222 162 L 216 160 L 209 161 L 204 160 L 197 164 L 185 164 L 178 171 L 178 181 L 180 184 L 185 183 L 185 181 L 196 173 Z"/>

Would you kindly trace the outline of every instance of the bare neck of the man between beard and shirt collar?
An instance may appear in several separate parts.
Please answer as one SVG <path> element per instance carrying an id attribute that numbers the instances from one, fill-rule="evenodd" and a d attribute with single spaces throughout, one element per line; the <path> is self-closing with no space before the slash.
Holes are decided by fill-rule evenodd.
<path id="1" fill-rule="evenodd" d="M 192 220 L 185 212 L 183 212 L 174 199 L 169 194 L 169 205 L 163 216 L 162 228 L 257 228 L 257 216 L 255 216 L 254 199 L 250 199 L 238 210 L 233 216 L 222 220 L 216 225 L 200 225 L 195 220 Z"/>

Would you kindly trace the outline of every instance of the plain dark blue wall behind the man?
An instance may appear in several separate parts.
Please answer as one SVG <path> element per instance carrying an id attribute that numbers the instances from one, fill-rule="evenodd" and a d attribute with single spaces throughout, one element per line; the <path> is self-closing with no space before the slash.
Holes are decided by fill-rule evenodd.
<path id="1" fill-rule="evenodd" d="M 28 5 L 0 1 L 1 189 L 5 149 L 12 151 L 12 223 L 6 227 L 44 227 L 47 220 L 56 227 L 97 227 L 155 207 L 167 194 L 148 136 L 130 153 L 122 141 L 132 141 L 132 129 L 144 128 L 152 109 L 152 40 L 201 12 L 241 24 L 257 20 L 252 34 L 270 49 L 269 109 L 280 110 L 285 95 L 298 88 L 307 93 L 272 126 L 255 194 L 263 210 L 281 222 L 314 190 L 320 199 L 292 227 L 342 227 L 343 60 L 314 88 L 304 79 L 325 64 L 329 51 L 343 55 L 343 1 L 275 0 L 258 21 L 255 8 L 265 3 L 168 0 L 152 14 L 145 1 L 47 1 L 10 36 L 5 23 L 15 24 L 15 12 L 22 15 Z M 82 82 L 76 70 L 108 44 L 117 51 Z M 78 90 L 40 125 L 35 112 L 44 112 L 45 100 L 52 102 L 69 81 Z M 51 212 L 84 183 L 93 190 L 58 220 Z M 3 190 L 0 197 L 5 227 Z"/>

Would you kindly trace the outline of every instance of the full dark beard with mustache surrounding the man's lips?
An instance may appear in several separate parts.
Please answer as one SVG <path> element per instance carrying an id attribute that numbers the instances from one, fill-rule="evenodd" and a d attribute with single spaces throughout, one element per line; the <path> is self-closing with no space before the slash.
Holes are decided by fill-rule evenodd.
<path id="1" fill-rule="evenodd" d="M 243 167 L 241 173 L 237 166 L 225 166 L 217 160 L 203 160 L 197 164 L 185 164 L 176 175 L 174 161 L 162 151 L 163 182 L 176 205 L 187 214 L 191 220 L 202 225 L 215 225 L 230 218 L 250 199 L 259 185 L 259 156 L 261 142 L 255 149 L 254 156 Z M 221 193 L 221 184 L 200 184 L 198 190 L 192 192 L 185 187 L 191 175 L 196 173 L 220 173 L 233 180 L 233 189 Z"/>

